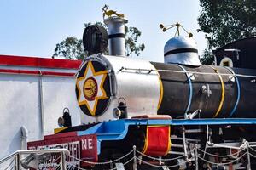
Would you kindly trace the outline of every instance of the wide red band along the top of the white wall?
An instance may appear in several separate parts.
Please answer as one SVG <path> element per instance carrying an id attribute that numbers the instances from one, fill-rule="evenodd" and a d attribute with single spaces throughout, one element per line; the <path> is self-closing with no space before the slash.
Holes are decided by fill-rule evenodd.
<path id="1" fill-rule="evenodd" d="M 0 55 L 0 65 L 44 67 L 56 69 L 78 69 L 81 62 L 81 60 L 70 59 L 46 59 L 38 57 Z"/>

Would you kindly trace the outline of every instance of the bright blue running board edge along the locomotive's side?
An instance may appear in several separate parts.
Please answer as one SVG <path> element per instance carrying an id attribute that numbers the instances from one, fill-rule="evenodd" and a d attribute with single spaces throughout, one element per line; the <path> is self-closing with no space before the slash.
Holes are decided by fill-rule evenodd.
<path id="1" fill-rule="evenodd" d="M 154 125 L 230 125 L 230 124 L 256 124 L 256 118 L 204 118 L 204 119 L 123 119 L 97 124 L 87 130 L 79 131 L 78 136 L 96 134 L 98 140 L 124 139 L 129 126 Z M 102 127 L 104 126 L 104 127 Z M 98 129 L 91 131 L 91 128 Z M 109 129 L 108 129 L 109 128 Z M 89 133 L 90 132 L 90 133 Z"/>

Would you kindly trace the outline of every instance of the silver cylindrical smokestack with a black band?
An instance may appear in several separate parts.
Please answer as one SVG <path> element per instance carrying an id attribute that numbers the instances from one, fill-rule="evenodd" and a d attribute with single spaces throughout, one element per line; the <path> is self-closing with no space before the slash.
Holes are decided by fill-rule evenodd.
<path id="1" fill-rule="evenodd" d="M 108 26 L 108 47 L 110 55 L 125 56 L 125 24 L 128 20 L 120 17 L 108 17 L 104 23 Z"/>

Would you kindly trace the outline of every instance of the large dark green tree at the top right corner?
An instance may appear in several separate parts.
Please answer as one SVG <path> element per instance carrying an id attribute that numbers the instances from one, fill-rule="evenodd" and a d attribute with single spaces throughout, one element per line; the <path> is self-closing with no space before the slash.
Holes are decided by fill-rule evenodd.
<path id="1" fill-rule="evenodd" d="M 256 35 L 255 0 L 200 0 L 200 29 L 206 33 L 207 50 Z"/>

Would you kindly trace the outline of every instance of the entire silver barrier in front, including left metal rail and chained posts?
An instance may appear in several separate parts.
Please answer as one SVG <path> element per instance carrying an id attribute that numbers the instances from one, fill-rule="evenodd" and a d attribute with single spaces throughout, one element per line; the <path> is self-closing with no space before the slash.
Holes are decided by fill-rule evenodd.
<path id="1" fill-rule="evenodd" d="M 2 167 L 3 170 L 21 170 L 20 168 L 20 161 L 23 161 L 20 159 L 21 155 L 24 154 L 45 154 L 45 153 L 60 153 L 60 157 L 56 158 L 60 159 L 58 161 L 59 163 L 55 165 L 53 169 L 55 170 L 73 170 L 73 169 L 79 169 L 79 170 L 90 170 L 94 166 L 104 166 L 109 167 L 108 170 L 118 170 L 121 169 L 121 167 L 125 167 L 128 163 L 131 163 L 134 170 L 137 170 L 138 165 L 144 164 L 149 167 L 159 167 L 162 169 L 168 169 L 172 167 L 181 167 L 185 166 L 187 163 L 193 161 L 195 165 L 195 170 L 198 170 L 199 168 L 199 162 L 201 163 L 207 163 L 211 166 L 230 166 L 230 164 L 234 164 L 236 162 L 241 161 L 241 159 L 247 159 L 247 169 L 251 170 L 251 161 L 250 157 L 256 158 L 256 150 L 253 148 L 256 147 L 255 145 L 250 146 L 249 143 L 242 144 L 240 150 L 236 151 L 236 153 L 227 154 L 227 155 L 217 155 L 212 154 L 210 152 L 207 152 L 205 150 L 201 150 L 201 148 L 197 147 L 197 144 L 195 144 L 195 147 L 189 151 L 191 153 L 188 157 L 184 154 L 181 156 L 176 156 L 172 158 L 162 158 L 162 157 L 154 157 L 154 156 L 148 156 L 144 154 L 143 152 L 136 149 L 136 146 L 133 147 L 131 151 L 126 153 L 124 156 L 120 156 L 119 158 L 115 160 L 110 161 L 104 161 L 104 162 L 94 162 L 94 161 L 84 161 L 81 160 L 75 156 L 71 156 L 66 149 L 52 149 L 52 150 L 18 150 L 15 153 L 4 157 L 2 160 L 0 160 L 0 166 L 5 162 L 6 167 Z M 206 157 L 203 157 L 203 155 L 206 155 L 207 157 L 212 156 L 216 158 L 230 158 L 232 159 L 224 159 L 223 161 L 216 162 L 211 161 L 207 159 Z M 236 157 L 234 157 L 234 155 Z M 79 161 L 80 163 L 86 163 L 90 167 L 84 168 L 79 167 L 79 164 L 72 164 L 71 162 L 67 161 L 67 157 L 72 157 L 73 160 Z M 150 161 L 152 160 L 152 161 Z M 178 161 L 180 160 L 180 161 Z M 8 161 L 8 163 L 6 163 Z M 173 164 L 176 162 L 176 164 Z M 47 162 L 45 162 L 47 163 Z M 130 166 L 131 166 L 130 165 Z M 192 165 L 192 164 L 190 164 Z M 106 169 L 106 168 L 104 168 Z"/>

